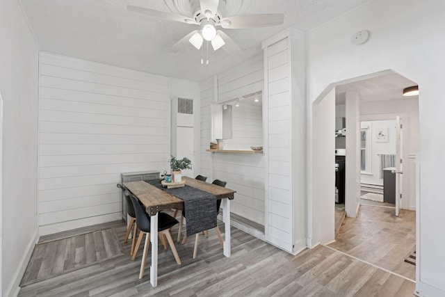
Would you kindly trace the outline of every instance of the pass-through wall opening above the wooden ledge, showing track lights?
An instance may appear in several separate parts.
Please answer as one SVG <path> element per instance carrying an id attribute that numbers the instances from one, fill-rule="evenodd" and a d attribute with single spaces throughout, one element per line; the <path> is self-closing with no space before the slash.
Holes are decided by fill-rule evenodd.
<path id="1" fill-rule="evenodd" d="M 212 104 L 213 141 L 225 150 L 250 150 L 263 145 L 262 91 Z"/>

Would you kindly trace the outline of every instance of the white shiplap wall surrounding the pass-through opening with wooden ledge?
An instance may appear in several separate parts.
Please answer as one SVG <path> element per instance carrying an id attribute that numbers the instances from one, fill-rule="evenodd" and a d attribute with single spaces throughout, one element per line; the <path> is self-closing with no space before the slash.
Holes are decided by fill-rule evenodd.
<path id="1" fill-rule="evenodd" d="M 206 152 L 210 141 L 215 141 L 211 139 L 212 102 L 215 102 L 216 97 L 218 102 L 223 102 L 263 90 L 263 55 L 254 56 L 238 67 L 218 74 L 216 84 L 217 92 L 214 78 L 200 83 L 202 119 L 200 174 L 207 175 L 208 182 L 213 179 L 226 181 L 227 188 L 236 191 L 231 211 L 264 225 L 264 155 Z"/>

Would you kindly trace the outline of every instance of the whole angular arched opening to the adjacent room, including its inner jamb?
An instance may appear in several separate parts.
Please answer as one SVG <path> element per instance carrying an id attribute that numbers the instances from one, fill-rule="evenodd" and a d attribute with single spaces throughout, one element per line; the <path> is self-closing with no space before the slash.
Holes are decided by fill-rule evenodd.
<path id="1" fill-rule="evenodd" d="M 392 245 L 384 248 L 383 245 L 380 244 L 380 254 L 378 257 L 375 257 L 378 258 L 375 259 L 375 261 L 371 261 L 366 255 L 363 257 L 366 262 L 371 262 L 389 271 L 396 269 L 397 273 L 405 275 L 412 280 L 415 278 L 415 266 L 410 267 L 410 264 L 406 264 L 408 266 L 405 267 L 405 269 L 403 267 L 405 264 L 398 263 L 398 258 L 401 258 L 400 261 L 404 262 L 405 256 L 409 255 L 410 250 L 415 247 L 415 214 L 412 215 L 404 213 L 403 211 L 414 211 L 416 207 L 414 159 L 415 154 L 420 152 L 419 97 L 402 96 L 403 88 L 414 85 L 416 85 L 414 81 L 410 81 L 410 79 L 392 70 L 385 70 L 364 77 L 356 77 L 354 79 L 348 79 L 348 81 L 339 81 L 330 84 L 318 99 L 316 99 L 312 109 L 312 234 L 314 235 L 313 238 L 321 243 L 336 241 L 336 231 L 339 229 L 338 220 L 343 218 L 339 216 L 338 213 L 336 215 L 335 205 L 338 206 L 341 204 L 341 202 L 343 202 L 342 200 L 344 200 L 343 208 L 345 209 L 344 213 L 346 216 L 350 218 L 368 216 L 368 214 L 365 213 L 365 208 L 360 206 L 360 197 L 362 196 L 361 176 L 370 174 L 370 172 L 373 175 L 378 175 L 378 172 L 384 169 L 380 168 L 380 164 L 378 164 L 378 166 L 374 166 L 372 169 L 368 168 L 368 172 L 363 170 L 362 128 L 360 123 L 365 120 L 372 122 L 394 119 L 395 121 L 396 116 L 401 118 L 403 122 L 403 138 L 401 140 L 402 149 L 400 155 L 403 160 L 403 175 L 399 174 L 400 172 L 397 172 L 397 170 L 392 171 L 395 171 L 396 175 L 403 176 L 401 182 L 403 199 L 399 201 L 401 202 L 400 207 L 402 209 L 401 218 L 402 220 L 412 218 L 413 230 L 406 228 L 407 234 L 405 236 L 410 237 L 412 241 L 405 241 L 403 234 L 401 234 L 400 240 L 394 239 L 394 235 L 391 235 L 390 232 L 391 225 L 375 227 L 378 226 L 377 223 L 380 223 L 375 222 L 374 227 L 376 230 L 374 231 L 382 235 L 381 237 L 375 236 L 375 238 L 383 241 L 383 238 L 386 236 L 387 243 L 391 241 Z M 341 105 L 343 105 L 343 113 L 340 112 L 341 108 L 339 108 L 339 106 Z M 342 120 L 339 120 L 339 118 Z M 337 133 L 334 134 L 336 124 L 337 127 L 335 130 L 337 130 Z M 343 125 L 343 127 L 338 127 L 338 125 Z M 377 123 L 375 123 L 375 127 L 378 127 Z M 373 128 L 370 129 L 372 133 L 375 132 Z M 344 135 L 341 135 L 341 131 L 339 132 L 339 130 L 343 130 Z M 385 129 L 383 130 L 387 131 Z M 336 135 L 337 138 L 335 137 Z M 391 134 L 391 138 L 394 138 L 393 134 Z M 371 154 L 372 158 L 379 158 L 377 154 L 384 154 L 384 152 L 375 152 L 376 156 L 373 156 L 372 146 L 377 147 L 379 144 L 378 141 L 387 141 L 389 143 L 389 139 L 390 138 L 376 138 L 374 135 L 369 138 L 371 146 L 368 147 L 368 150 L 370 150 L 369 154 Z M 391 139 L 391 141 L 394 141 L 394 139 Z M 336 150 L 341 150 L 341 154 L 337 154 L 336 156 Z M 393 154 L 393 152 L 385 152 L 385 155 L 386 154 Z M 344 172 L 342 172 L 344 179 L 344 198 L 337 198 L 336 203 L 336 193 L 337 197 L 339 195 L 339 174 L 337 173 L 336 181 L 336 166 L 334 166 L 334 164 L 340 163 L 339 159 L 343 159 L 344 162 Z M 396 158 L 394 158 L 394 160 L 395 159 Z M 381 165 L 390 167 L 390 164 Z M 378 179 L 380 179 L 380 177 L 378 177 Z M 385 191 L 385 188 L 389 188 L 388 185 L 386 187 L 380 185 L 380 187 L 383 191 Z M 373 211 L 375 211 L 375 207 Z M 386 212 L 390 220 L 400 220 L 396 218 L 395 211 L 385 209 L 382 212 Z M 379 218 L 376 218 L 376 220 L 378 219 Z M 350 220 L 350 222 L 354 221 L 359 222 L 359 218 Z M 369 218 L 369 222 L 372 223 L 372 217 Z M 348 225 L 348 228 L 350 227 L 351 225 Z M 378 230 L 378 228 L 381 228 L 383 231 Z M 387 235 L 385 235 L 386 231 L 388 231 Z M 366 254 L 366 239 L 364 237 L 367 233 L 369 232 L 364 231 L 361 232 L 361 234 L 357 234 L 357 236 L 349 234 L 350 241 L 341 242 L 343 250 L 340 247 L 338 239 L 337 243 L 332 243 L 331 246 L 346 253 L 352 250 L 350 255 L 360 258 L 362 255 L 360 255 L 358 251 L 361 250 L 363 254 Z M 346 237 L 347 236 L 344 238 Z M 362 244 L 362 246 L 360 246 L 360 244 Z M 402 248 L 399 245 L 402 246 Z M 348 248 L 345 248 L 346 246 Z M 376 246 L 379 246 L 377 241 L 372 244 L 368 243 L 367 246 L 369 248 L 375 248 L 375 250 L 368 250 L 369 255 L 373 253 L 375 255 L 375 252 L 379 252 L 377 250 L 378 248 L 376 248 Z M 388 261 L 388 259 L 391 259 L 391 261 Z M 391 262 L 392 264 L 385 266 L 386 264 L 384 262 Z M 408 272 L 405 273 L 404 270 Z"/>

